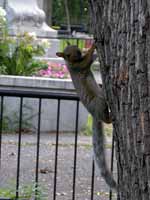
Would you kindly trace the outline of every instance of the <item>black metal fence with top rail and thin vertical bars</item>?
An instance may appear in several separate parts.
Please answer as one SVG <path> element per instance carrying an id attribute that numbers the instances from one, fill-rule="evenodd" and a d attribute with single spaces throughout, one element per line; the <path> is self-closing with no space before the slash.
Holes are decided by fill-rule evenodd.
<path id="1" fill-rule="evenodd" d="M 58 148 L 59 148 L 59 121 L 60 121 L 60 106 L 62 100 L 75 101 L 76 102 L 76 119 L 75 119 L 75 138 L 74 138 L 74 158 L 73 158 L 73 176 L 72 176 L 72 200 L 76 199 L 76 167 L 77 167 L 77 148 L 78 148 L 78 123 L 79 123 L 79 98 L 76 94 L 65 94 L 65 93 L 46 93 L 46 92 L 33 92 L 33 91 L 18 91 L 18 90 L 0 90 L 0 170 L 1 170 L 1 154 L 2 154 L 2 133 L 3 133 L 3 108 L 5 97 L 18 97 L 19 103 L 19 130 L 18 130 L 18 141 L 17 141 L 17 167 L 16 167 L 16 197 L 19 198 L 19 187 L 20 187 L 20 163 L 21 163 L 21 142 L 22 142 L 22 112 L 23 112 L 23 101 L 24 98 L 36 98 L 38 99 L 38 127 L 36 138 L 36 166 L 35 166 L 35 183 L 38 186 L 39 183 L 39 152 L 40 152 L 40 139 L 41 139 L 41 105 L 43 99 L 55 99 L 57 100 L 57 118 L 56 118 L 56 143 L 55 143 L 55 161 L 54 161 L 54 185 L 53 185 L 53 200 L 57 199 L 57 168 L 58 168 Z M 112 143 L 112 152 L 114 148 L 114 140 Z M 94 200 L 94 162 L 91 163 L 91 200 Z M 111 170 L 113 171 L 113 153 L 111 158 Z M 65 173 L 65 172 L 64 172 Z M 35 190 L 35 194 L 36 194 Z M 0 200 L 9 199 L 0 197 Z M 35 195 L 35 200 L 36 200 Z M 112 193 L 110 191 L 109 199 L 112 199 Z"/>

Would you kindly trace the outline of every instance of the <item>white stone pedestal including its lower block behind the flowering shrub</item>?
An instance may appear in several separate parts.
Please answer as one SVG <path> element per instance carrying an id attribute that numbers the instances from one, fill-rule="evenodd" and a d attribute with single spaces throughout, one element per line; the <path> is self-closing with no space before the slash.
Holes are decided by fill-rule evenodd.
<path id="1" fill-rule="evenodd" d="M 43 57 L 56 57 L 60 41 L 50 39 L 57 37 L 57 31 L 46 24 L 46 16 L 43 11 L 44 0 L 0 0 L 0 6 L 4 7 L 7 13 L 8 29 L 11 35 L 18 33 L 35 33 L 39 40 L 47 39 L 50 48 L 46 50 Z"/>

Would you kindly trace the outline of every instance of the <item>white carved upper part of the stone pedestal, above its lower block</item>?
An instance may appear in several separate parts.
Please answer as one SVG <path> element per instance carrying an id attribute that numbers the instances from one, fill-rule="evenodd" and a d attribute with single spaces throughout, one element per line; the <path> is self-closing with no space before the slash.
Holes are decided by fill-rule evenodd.
<path id="1" fill-rule="evenodd" d="M 10 32 L 36 32 L 37 36 L 56 36 L 57 31 L 45 22 L 45 13 L 37 0 L 7 0 L 6 13 Z"/>

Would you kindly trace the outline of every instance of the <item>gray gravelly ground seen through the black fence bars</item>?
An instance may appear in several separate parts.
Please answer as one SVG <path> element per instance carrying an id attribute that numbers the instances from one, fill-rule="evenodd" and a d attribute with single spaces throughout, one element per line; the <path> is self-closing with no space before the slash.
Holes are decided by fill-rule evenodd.
<path id="1" fill-rule="evenodd" d="M 2 160 L 0 170 L 0 188 L 15 188 L 17 161 L 17 134 L 2 136 Z M 71 200 L 74 166 L 74 134 L 60 134 L 58 147 L 57 200 Z M 40 142 L 39 182 L 42 190 L 47 193 L 48 200 L 53 199 L 55 134 L 42 134 Z M 78 136 L 76 200 L 91 199 L 92 176 L 92 145 L 91 137 Z M 110 165 L 111 139 L 107 140 L 106 157 Z M 20 184 L 32 185 L 35 180 L 36 165 L 36 135 L 23 134 L 21 147 Z M 115 173 L 116 174 L 116 170 Z M 99 170 L 95 172 L 94 200 L 108 200 L 109 188 L 100 177 Z M 113 199 L 116 199 L 113 195 Z M 43 198 L 44 200 L 44 198 Z"/>

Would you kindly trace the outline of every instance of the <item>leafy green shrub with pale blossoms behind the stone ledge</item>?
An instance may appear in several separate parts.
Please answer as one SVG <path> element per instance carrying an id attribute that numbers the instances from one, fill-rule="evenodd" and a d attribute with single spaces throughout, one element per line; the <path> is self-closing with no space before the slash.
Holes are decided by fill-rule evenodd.
<path id="1" fill-rule="evenodd" d="M 46 63 L 35 59 L 44 55 L 44 49 L 45 44 L 27 32 L 11 38 L 5 16 L 0 14 L 0 74 L 28 76 L 46 68 Z"/>

